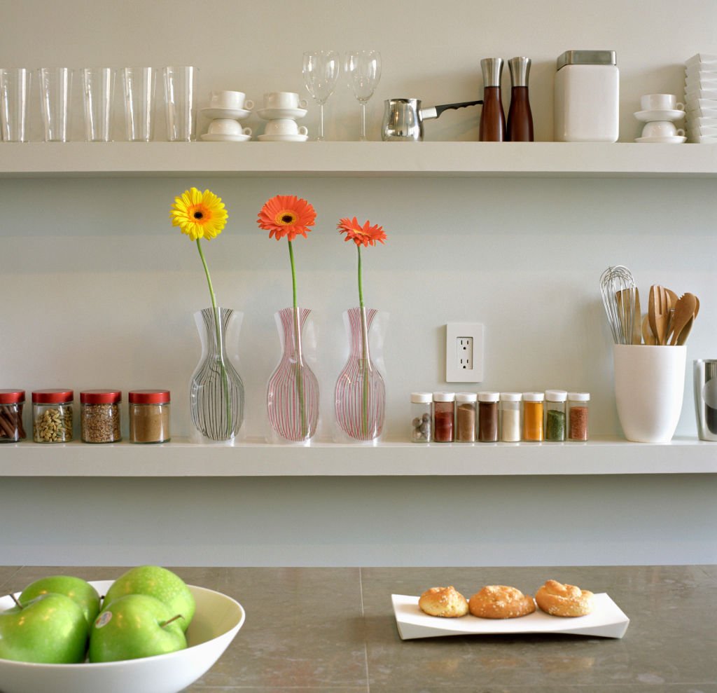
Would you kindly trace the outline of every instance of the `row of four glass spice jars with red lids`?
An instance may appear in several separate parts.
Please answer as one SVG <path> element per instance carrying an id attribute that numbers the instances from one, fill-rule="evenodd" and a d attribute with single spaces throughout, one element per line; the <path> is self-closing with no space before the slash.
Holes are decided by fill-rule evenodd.
<path id="1" fill-rule="evenodd" d="M 170 438 L 170 397 L 167 390 L 129 393 L 130 443 L 166 443 Z M 72 390 L 32 392 L 32 439 L 35 443 L 72 440 Z M 0 390 L 0 442 L 16 443 L 27 436 L 22 426 L 24 390 Z M 119 390 L 80 392 L 83 443 L 117 443 L 120 433 Z"/>

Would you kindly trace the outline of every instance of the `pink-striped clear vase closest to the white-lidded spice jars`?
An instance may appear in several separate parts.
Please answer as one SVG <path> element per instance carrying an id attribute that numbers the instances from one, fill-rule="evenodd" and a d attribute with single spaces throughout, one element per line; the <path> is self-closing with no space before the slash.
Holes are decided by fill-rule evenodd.
<path id="1" fill-rule="evenodd" d="M 334 395 L 336 423 L 350 440 L 377 440 L 384 430 L 386 386 L 369 346 L 377 313 L 374 308 L 349 308 L 343 314 L 349 354 Z"/>

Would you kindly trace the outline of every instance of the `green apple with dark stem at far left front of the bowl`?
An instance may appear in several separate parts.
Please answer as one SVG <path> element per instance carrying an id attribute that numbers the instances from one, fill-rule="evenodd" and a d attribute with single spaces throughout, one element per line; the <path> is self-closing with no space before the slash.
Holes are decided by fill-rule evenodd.
<path id="1" fill-rule="evenodd" d="M 87 621 L 64 594 L 45 594 L 0 613 L 0 659 L 39 664 L 84 661 Z"/>

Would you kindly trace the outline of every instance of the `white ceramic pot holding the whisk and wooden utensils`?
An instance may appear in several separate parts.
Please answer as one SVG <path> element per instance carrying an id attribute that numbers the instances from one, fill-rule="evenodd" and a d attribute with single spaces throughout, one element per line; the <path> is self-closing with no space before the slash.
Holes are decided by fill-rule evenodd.
<path id="1" fill-rule="evenodd" d="M 687 347 L 614 344 L 617 415 L 627 440 L 668 443 L 682 411 Z"/>

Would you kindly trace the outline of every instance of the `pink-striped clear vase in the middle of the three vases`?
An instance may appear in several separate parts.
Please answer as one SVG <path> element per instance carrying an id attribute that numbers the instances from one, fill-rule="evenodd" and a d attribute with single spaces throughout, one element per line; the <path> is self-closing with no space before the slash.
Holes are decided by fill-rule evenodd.
<path id="1" fill-rule="evenodd" d="M 310 312 L 282 308 L 274 314 L 282 354 L 267 384 L 267 415 L 277 442 L 306 443 L 318 426 L 318 380 L 302 341 Z"/>

